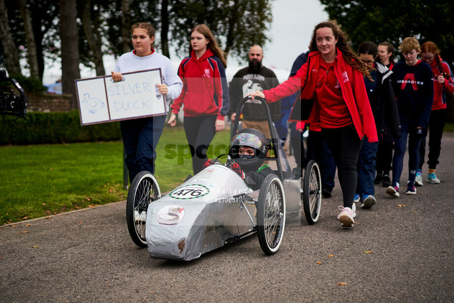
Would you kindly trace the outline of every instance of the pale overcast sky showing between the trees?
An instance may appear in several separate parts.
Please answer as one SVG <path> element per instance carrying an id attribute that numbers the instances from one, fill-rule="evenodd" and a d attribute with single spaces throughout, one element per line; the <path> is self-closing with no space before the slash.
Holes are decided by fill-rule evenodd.
<path id="1" fill-rule="evenodd" d="M 268 36 L 271 42 L 264 48 L 264 61 L 266 67 L 274 67 L 274 72 L 282 81 L 288 77 L 293 61 L 299 54 L 308 50 L 310 37 L 314 26 L 328 19 L 328 14 L 323 10 L 319 0 L 272 0 L 273 22 Z M 159 33 L 156 33 L 157 35 Z M 172 61 L 178 67 L 182 58 L 177 58 L 171 52 Z M 233 76 L 240 65 L 236 60 L 228 58 L 227 78 Z M 114 56 L 104 56 L 106 73 L 110 73 L 115 66 Z M 82 66 L 81 66 L 82 67 Z M 94 70 L 82 68 L 82 78 L 95 76 Z M 53 83 L 61 77 L 60 64 L 54 63 L 53 67 L 46 67 L 43 83 Z"/>

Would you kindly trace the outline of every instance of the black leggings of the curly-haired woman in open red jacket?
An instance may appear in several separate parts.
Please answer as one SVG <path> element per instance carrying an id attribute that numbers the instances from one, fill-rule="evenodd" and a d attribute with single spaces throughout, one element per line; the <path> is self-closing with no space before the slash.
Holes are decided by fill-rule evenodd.
<path id="1" fill-rule="evenodd" d="M 351 208 L 358 182 L 356 164 L 362 141 L 353 124 L 340 128 L 322 128 L 322 134 L 338 167 L 343 207 Z"/>

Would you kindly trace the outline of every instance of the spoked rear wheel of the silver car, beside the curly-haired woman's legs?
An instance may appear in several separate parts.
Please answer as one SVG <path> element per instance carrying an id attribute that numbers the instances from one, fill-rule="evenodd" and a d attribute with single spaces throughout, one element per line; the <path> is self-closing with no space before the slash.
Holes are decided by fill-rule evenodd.
<path id="1" fill-rule="evenodd" d="M 320 216 L 322 202 L 320 168 L 314 160 L 307 163 L 303 179 L 303 207 L 307 223 L 314 224 Z"/>

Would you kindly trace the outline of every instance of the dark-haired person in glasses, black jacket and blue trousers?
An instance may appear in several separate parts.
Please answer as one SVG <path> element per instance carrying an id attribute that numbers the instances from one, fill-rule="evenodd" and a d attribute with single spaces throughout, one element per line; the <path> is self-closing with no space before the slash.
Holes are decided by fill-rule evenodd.
<path id="1" fill-rule="evenodd" d="M 400 137 L 399 114 L 397 113 L 396 99 L 392 90 L 392 72 L 384 65 L 375 61 L 377 45 L 373 42 L 364 42 L 359 45 L 358 54 L 361 61 L 371 67 L 371 81 L 364 77 L 367 96 L 371 103 L 377 126 L 378 141 L 391 135 L 394 139 Z M 361 208 L 371 208 L 377 203 L 374 197 L 374 178 L 378 142 L 364 140 L 358 156 L 358 185 L 356 187 L 355 202 L 361 201 Z M 389 165 L 391 164 L 389 160 Z M 387 176 L 389 179 L 389 176 Z"/>

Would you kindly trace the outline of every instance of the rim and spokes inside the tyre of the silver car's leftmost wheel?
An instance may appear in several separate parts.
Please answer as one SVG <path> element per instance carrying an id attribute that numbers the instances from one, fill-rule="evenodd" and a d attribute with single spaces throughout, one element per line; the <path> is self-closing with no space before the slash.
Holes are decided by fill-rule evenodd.
<path id="1" fill-rule="evenodd" d="M 145 226 L 147 218 L 148 204 L 156 198 L 156 190 L 154 190 L 153 181 L 150 178 L 145 178 L 139 183 L 136 195 L 134 197 L 134 227 L 137 236 L 146 241 Z"/>

